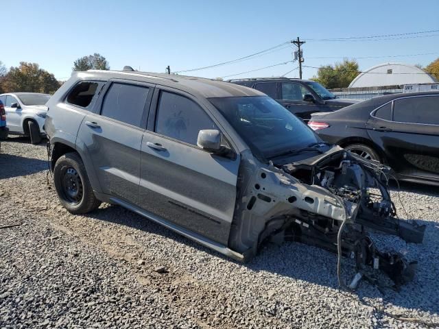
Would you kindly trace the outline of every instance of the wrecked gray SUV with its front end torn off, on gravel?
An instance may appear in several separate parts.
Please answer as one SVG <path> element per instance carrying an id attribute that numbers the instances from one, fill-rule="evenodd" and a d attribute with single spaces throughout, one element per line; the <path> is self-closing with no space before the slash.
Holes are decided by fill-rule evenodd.
<path id="1" fill-rule="evenodd" d="M 117 204 L 247 261 L 267 241 L 300 241 L 382 269 L 399 285 L 416 263 L 379 252 L 366 228 L 423 241 L 396 219 L 390 169 L 320 140 L 263 93 L 198 77 L 87 71 L 51 97 L 54 185 L 72 213 Z"/>

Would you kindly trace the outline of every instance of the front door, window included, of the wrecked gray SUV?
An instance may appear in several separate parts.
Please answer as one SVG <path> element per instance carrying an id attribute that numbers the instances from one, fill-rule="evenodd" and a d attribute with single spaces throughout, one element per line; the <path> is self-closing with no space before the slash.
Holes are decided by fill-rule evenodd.
<path id="1" fill-rule="evenodd" d="M 239 155 L 224 158 L 196 145 L 200 130 L 221 128 L 191 95 L 161 87 L 154 103 L 141 147 L 141 207 L 227 245 Z"/>

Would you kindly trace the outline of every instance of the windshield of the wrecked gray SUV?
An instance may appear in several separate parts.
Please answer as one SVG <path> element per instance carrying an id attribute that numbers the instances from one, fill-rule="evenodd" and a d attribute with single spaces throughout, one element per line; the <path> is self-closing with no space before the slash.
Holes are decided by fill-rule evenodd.
<path id="1" fill-rule="evenodd" d="M 270 159 L 320 142 L 305 123 L 270 97 L 221 97 L 209 101 L 255 155 Z"/>

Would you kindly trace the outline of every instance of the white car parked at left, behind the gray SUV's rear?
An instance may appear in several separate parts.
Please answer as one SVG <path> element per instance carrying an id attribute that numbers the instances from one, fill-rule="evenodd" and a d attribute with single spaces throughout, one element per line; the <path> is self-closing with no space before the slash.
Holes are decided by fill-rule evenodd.
<path id="1" fill-rule="evenodd" d="M 42 135 L 45 135 L 45 103 L 49 99 L 50 95 L 40 93 L 1 94 L 9 134 L 29 136 L 32 144 L 40 143 Z"/>

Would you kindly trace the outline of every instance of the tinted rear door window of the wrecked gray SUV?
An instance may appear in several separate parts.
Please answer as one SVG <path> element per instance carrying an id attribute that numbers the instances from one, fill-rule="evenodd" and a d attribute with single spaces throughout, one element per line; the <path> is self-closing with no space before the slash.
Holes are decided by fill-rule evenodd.
<path id="1" fill-rule="evenodd" d="M 101 115 L 141 127 L 143 110 L 150 88 L 132 84 L 112 84 Z"/>

